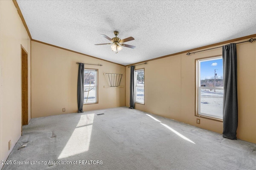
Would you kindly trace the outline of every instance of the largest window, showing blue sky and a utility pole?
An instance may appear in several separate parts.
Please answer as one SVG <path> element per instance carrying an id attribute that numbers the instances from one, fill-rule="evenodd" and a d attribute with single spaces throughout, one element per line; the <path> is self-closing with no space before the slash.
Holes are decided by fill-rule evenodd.
<path id="1" fill-rule="evenodd" d="M 222 57 L 196 60 L 196 116 L 223 119 Z"/>

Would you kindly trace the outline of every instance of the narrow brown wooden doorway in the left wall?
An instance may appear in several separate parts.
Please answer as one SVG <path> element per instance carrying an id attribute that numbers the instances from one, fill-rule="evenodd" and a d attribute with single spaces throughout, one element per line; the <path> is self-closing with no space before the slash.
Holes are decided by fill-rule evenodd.
<path id="1" fill-rule="evenodd" d="M 28 53 L 21 46 L 21 125 L 28 125 Z M 22 127 L 21 127 L 22 134 Z"/>

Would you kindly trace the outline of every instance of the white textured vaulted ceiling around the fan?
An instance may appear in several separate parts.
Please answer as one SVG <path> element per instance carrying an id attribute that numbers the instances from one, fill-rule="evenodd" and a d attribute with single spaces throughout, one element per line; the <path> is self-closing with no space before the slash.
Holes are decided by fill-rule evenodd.
<path id="1" fill-rule="evenodd" d="M 256 1 L 17 2 L 32 39 L 123 65 L 256 34 Z M 136 48 L 94 45 L 115 30 Z"/>

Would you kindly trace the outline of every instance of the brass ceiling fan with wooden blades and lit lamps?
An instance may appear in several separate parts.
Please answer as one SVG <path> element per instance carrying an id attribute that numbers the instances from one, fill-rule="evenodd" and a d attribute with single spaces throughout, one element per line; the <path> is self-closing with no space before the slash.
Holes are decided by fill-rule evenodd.
<path id="1" fill-rule="evenodd" d="M 131 49 L 134 49 L 135 46 L 133 45 L 128 45 L 128 44 L 121 44 L 121 43 L 124 43 L 124 42 L 127 42 L 127 41 L 132 41 L 134 40 L 133 37 L 128 37 L 128 38 L 125 38 L 125 39 L 120 39 L 117 37 L 117 35 L 119 34 L 118 31 L 114 31 L 114 34 L 116 35 L 116 37 L 113 37 L 113 38 L 110 38 L 104 34 L 101 34 L 102 37 L 105 37 L 106 39 L 108 39 L 109 41 L 112 41 L 112 43 L 104 43 L 104 44 L 94 44 L 94 45 L 106 45 L 106 44 L 113 44 L 111 45 L 111 49 L 112 51 L 116 51 L 116 53 L 118 53 L 118 51 L 120 51 L 121 49 L 123 49 L 121 46 L 123 47 L 128 47 L 128 48 L 131 48 Z"/>

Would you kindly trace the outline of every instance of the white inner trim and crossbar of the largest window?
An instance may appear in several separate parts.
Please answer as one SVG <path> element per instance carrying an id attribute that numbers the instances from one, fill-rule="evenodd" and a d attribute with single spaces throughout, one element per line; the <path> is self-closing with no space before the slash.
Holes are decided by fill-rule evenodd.
<path id="1" fill-rule="evenodd" d="M 201 81 L 200 81 L 200 63 L 204 62 L 204 61 L 212 61 L 212 60 L 217 60 L 217 59 L 222 59 L 222 56 L 219 57 L 209 57 L 206 59 L 196 59 L 196 79 L 197 79 L 197 83 L 196 83 L 196 88 L 197 88 L 197 94 L 196 94 L 196 98 L 197 98 L 197 110 L 196 110 L 196 116 L 204 116 L 204 117 L 208 117 L 210 119 L 214 118 L 214 119 L 219 119 L 219 120 L 223 120 L 223 116 L 217 116 L 217 115 L 211 115 L 211 114 L 207 114 L 207 113 L 201 113 L 201 89 L 224 89 L 224 87 L 205 87 L 205 86 L 201 86 Z"/>

